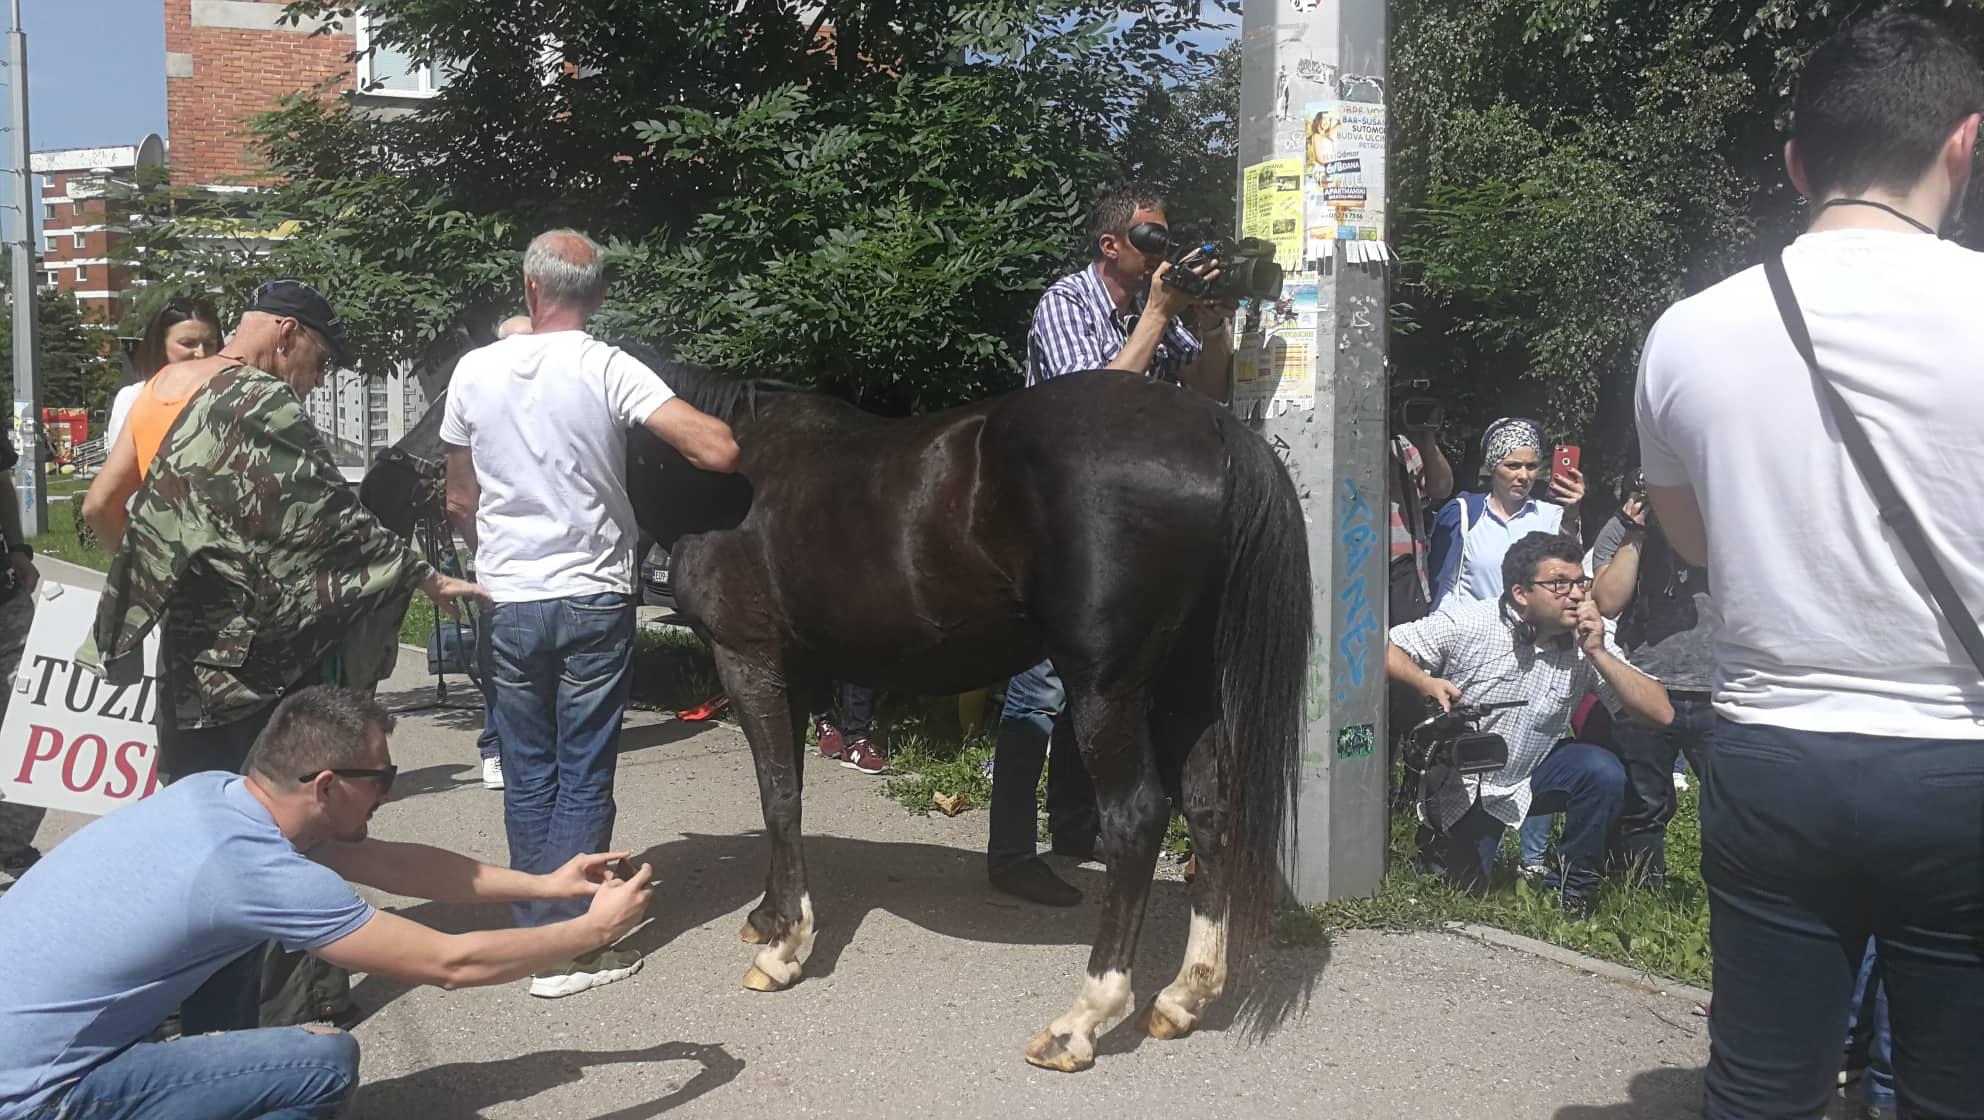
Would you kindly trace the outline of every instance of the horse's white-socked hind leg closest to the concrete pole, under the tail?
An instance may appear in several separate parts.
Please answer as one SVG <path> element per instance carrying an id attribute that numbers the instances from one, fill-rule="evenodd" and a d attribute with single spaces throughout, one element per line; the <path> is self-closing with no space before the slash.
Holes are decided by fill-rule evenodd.
<path id="1" fill-rule="evenodd" d="M 1192 854 L 1198 874 L 1192 878 L 1192 930 L 1184 942 L 1184 963 L 1178 979 L 1157 993 L 1143 1013 L 1143 1029 L 1153 1039 L 1182 1039 L 1198 1025 L 1206 1005 L 1226 991 L 1226 858 L 1220 837 L 1230 823 L 1224 815 L 1214 735 L 1216 724 L 1196 733 L 1196 743 L 1184 759 L 1184 825 L 1192 833 Z"/>

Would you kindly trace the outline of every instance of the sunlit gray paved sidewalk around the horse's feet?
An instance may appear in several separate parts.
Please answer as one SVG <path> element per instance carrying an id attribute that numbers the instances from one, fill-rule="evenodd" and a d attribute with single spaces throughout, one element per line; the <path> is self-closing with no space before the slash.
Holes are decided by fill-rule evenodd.
<path id="1" fill-rule="evenodd" d="M 385 700 L 433 698 L 405 654 Z M 458 694 L 458 692 L 456 692 Z M 472 692 L 470 692 L 472 696 Z M 375 835 L 502 862 L 502 795 L 478 781 L 480 712 L 407 716 L 397 799 Z M 1210 1029 L 1155 1043 L 1113 1029 L 1093 1070 L 1020 1059 L 1075 995 L 1091 904 L 1040 910 L 984 886 L 984 815 L 915 817 L 879 783 L 813 759 L 806 858 L 819 942 L 806 979 L 760 995 L 736 940 L 766 848 L 750 749 L 728 726 L 639 716 L 625 733 L 617 837 L 657 870 L 633 979 L 542 1001 L 522 983 L 407 991 L 363 979 L 359 1118 L 1246 1116 L 1676 1120 L 1696 1114 L 1706 1023 L 1676 995 L 1444 934 L 1347 934 L 1276 950 L 1284 1005 L 1254 1037 L 1232 993 Z M 50 815 L 44 846 L 77 819 Z M 1063 864 L 1065 866 L 1065 864 Z M 1165 868 L 1137 959 L 1139 1003 L 1177 971 L 1186 898 Z M 381 902 L 393 902 L 383 900 Z M 506 908 L 405 904 L 444 928 Z"/>

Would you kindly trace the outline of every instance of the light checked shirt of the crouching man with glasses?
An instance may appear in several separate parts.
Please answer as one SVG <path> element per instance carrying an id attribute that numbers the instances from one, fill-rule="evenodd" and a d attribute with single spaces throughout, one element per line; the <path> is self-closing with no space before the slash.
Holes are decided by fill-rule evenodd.
<path id="1" fill-rule="evenodd" d="M 1476 797 L 1490 817 L 1512 829 L 1520 827 L 1530 815 L 1530 773 L 1563 739 L 1585 694 L 1595 692 L 1615 714 L 1621 710 L 1619 694 L 1605 684 L 1573 636 L 1544 644 L 1518 642 L 1516 630 L 1502 618 L 1500 601 L 1460 603 L 1393 626 L 1391 644 L 1405 650 L 1419 668 L 1454 682 L 1468 704 L 1528 702 L 1524 708 L 1490 712 L 1480 724 L 1482 731 L 1508 741 L 1508 765 L 1448 781 L 1428 799 L 1442 829 L 1452 827 Z M 1605 650 L 1625 660 L 1613 644 L 1611 622 L 1605 624 Z"/>

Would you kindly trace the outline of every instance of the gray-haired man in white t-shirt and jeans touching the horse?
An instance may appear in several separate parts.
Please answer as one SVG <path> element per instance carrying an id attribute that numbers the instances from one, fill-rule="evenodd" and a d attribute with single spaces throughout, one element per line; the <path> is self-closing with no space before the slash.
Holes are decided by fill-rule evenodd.
<path id="1" fill-rule="evenodd" d="M 605 846 L 635 628 L 627 430 L 645 426 L 702 470 L 736 470 L 730 426 L 585 333 L 605 260 L 575 230 L 524 254 L 530 333 L 462 355 L 448 385 L 448 519 L 476 549 L 494 607 L 488 670 L 502 749 L 510 866 L 546 872 Z M 518 904 L 518 926 L 571 902 Z M 639 955 L 593 952 L 540 971 L 530 993 L 573 995 L 633 975 Z"/>

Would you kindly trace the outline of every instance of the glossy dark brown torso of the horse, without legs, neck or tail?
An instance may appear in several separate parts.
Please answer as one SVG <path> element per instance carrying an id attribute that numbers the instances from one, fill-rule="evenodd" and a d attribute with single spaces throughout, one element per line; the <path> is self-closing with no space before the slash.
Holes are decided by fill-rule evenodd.
<path id="1" fill-rule="evenodd" d="M 867 684 L 968 686 L 1121 644 L 1210 589 L 1220 414 L 1111 371 L 907 420 L 778 400 L 744 442 L 750 515 L 692 567 L 732 615 L 776 601 L 792 654 Z"/>

